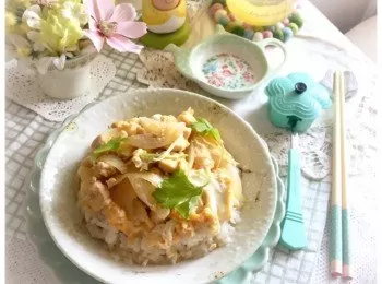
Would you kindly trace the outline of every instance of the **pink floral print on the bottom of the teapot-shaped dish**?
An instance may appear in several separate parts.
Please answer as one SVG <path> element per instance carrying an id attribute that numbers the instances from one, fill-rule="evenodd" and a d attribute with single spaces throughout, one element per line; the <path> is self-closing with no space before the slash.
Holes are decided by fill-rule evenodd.
<path id="1" fill-rule="evenodd" d="M 202 72 L 208 84 L 223 88 L 238 90 L 256 82 L 253 69 L 241 58 L 229 54 L 210 58 Z"/>

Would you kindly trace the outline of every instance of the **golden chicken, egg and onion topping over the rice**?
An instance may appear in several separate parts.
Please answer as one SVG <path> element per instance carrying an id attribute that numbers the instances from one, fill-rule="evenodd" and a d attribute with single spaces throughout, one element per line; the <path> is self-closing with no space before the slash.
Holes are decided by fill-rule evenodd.
<path id="1" fill-rule="evenodd" d="M 77 170 L 77 201 L 86 221 L 91 215 L 107 221 L 109 245 L 118 242 L 117 232 L 126 241 L 139 239 L 140 246 L 164 249 L 169 257 L 175 253 L 169 250 L 174 244 L 199 230 L 217 234 L 220 223 L 230 220 L 242 193 L 237 163 L 220 141 L 195 132 L 195 121 L 192 108 L 178 117 L 135 117 L 114 122 L 93 141 L 91 151 L 98 152 L 89 153 Z M 163 208 L 153 197 L 177 170 L 203 187 L 189 220 L 175 209 Z M 98 228 L 92 234 L 104 237 Z M 215 247 L 211 245 L 211 249 Z M 176 258 L 172 256 L 172 261 Z"/>

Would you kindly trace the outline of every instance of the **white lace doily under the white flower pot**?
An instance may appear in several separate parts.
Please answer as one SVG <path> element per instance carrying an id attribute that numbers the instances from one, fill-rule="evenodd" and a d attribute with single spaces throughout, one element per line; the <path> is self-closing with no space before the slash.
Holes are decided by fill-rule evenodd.
<path id="1" fill-rule="evenodd" d="M 37 75 L 17 68 L 12 60 L 5 67 L 7 97 L 41 117 L 52 121 L 63 121 L 92 103 L 116 74 L 112 61 L 98 55 L 91 66 L 91 91 L 88 94 L 70 100 L 48 97 L 39 87 Z"/>

